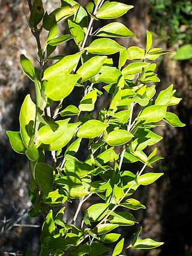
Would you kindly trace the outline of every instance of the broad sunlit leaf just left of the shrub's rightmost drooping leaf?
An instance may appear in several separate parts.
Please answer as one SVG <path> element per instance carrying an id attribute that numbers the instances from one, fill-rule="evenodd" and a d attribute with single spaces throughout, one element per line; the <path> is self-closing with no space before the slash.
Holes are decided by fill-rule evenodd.
<path id="1" fill-rule="evenodd" d="M 144 123 L 155 123 L 165 117 L 166 111 L 167 106 L 153 105 L 143 109 L 138 118 L 144 120 Z"/>

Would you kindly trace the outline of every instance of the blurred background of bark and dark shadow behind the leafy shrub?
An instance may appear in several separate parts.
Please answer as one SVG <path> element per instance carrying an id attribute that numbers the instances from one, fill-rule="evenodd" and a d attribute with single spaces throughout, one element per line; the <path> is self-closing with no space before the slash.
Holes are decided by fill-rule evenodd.
<path id="1" fill-rule="evenodd" d="M 48 10 L 59 1 L 44 0 Z M 83 6 L 88 1 L 77 1 Z M 143 227 L 142 237 L 163 241 L 161 248 L 130 251 L 128 255 L 192 255 L 192 4 L 187 0 L 122 0 L 134 8 L 119 18 L 136 37 L 119 40 L 125 47 L 145 47 L 146 29 L 154 35 L 154 47 L 169 50 L 157 60 L 161 82 L 157 90 L 173 84 L 183 100 L 173 106 L 182 128 L 161 127 L 164 136 L 158 153 L 164 157 L 153 171 L 164 172 L 158 182 L 137 192 L 146 210 L 137 213 Z M 29 218 L 28 163 L 25 156 L 14 153 L 6 130 L 19 130 L 20 106 L 26 96 L 34 96 L 31 82 L 20 68 L 20 54 L 34 60 L 35 38 L 28 27 L 26 0 L 0 0 L 0 255 L 25 255 L 30 248 L 37 255 L 41 219 Z M 103 26 L 102 21 L 97 24 Z M 61 25 L 65 32 L 65 23 Z M 73 43 L 63 44 L 59 53 L 73 52 Z M 174 55 L 175 54 L 175 55 Z M 174 55 L 174 56 L 173 56 Z M 173 56 L 173 58 L 172 58 Z M 127 243 L 139 226 L 127 228 Z M 125 254 L 126 252 L 124 252 Z"/>

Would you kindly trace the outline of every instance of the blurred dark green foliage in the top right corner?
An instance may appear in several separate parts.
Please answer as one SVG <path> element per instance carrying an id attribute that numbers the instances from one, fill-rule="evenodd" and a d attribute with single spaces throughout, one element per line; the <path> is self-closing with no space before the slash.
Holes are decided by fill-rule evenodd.
<path id="1" fill-rule="evenodd" d="M 191 1 L 183 0 L 148 0 L 152 30 L 167 40 L 169 45 L 182 41 L 191 43 Z M 181 43 L 180 43 L 181 44 Z"/>

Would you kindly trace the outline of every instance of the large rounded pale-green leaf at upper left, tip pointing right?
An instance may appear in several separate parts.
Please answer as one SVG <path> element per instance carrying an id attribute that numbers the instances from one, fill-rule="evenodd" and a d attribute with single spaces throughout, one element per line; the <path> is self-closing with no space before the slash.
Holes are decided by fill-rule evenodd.
<path id="1" fill-rule="evenodd" d="M 44 85 L 47 97 L 56 101 L 66 98 L 79 79 L 79 75 L 57 75 L 49 79 Z"/>

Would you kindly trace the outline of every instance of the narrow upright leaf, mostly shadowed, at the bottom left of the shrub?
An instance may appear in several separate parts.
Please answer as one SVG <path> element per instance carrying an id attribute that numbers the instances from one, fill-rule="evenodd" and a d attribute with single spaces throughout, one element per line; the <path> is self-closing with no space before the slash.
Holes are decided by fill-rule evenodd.
<path id="1" fill-rule="evenodd" d="M 54 232 L 55 222 L 53 220 L 53 212 L 52 210 L 50 210 L 50 212 L 46 216 L 46 219 L 42 227 L 42 233 L 40 236 L 41 244 L 44 245 L 46 243 L 49 243 L 49 240 L 53 237 Z"/>

